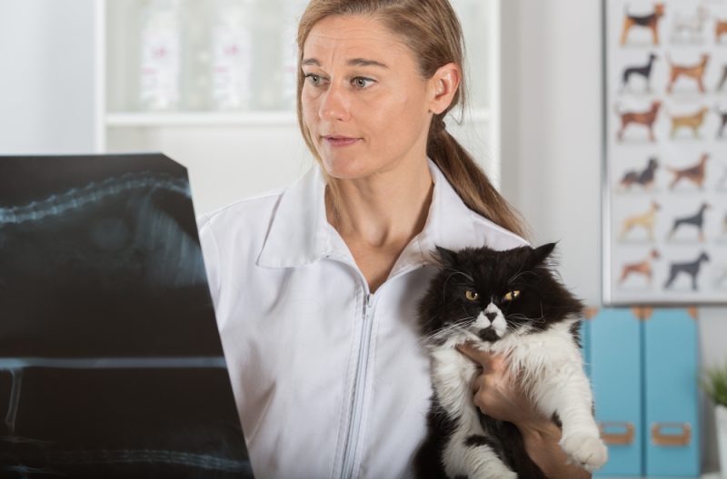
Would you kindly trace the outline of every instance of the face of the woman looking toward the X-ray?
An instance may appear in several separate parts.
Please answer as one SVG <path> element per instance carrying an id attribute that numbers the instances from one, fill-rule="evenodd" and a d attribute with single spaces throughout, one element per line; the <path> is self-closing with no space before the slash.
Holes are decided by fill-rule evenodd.
<path id="1" fill-rule="evenodd" d="M 303 115 L 325 170 L 363 178 L 422 161 L 433 83 L 412 52 L 365 16 L 329 16 L 304 44 Z"/>

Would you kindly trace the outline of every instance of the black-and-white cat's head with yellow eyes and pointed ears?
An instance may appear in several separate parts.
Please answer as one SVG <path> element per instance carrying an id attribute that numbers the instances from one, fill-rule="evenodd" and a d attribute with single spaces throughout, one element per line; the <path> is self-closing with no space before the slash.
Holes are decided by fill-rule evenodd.
<path id="1" fill-rule="evenodd" d="M 440 271 L 419 305 L 425 337 L 433 345 L 493 343 L 581 315 L 583 304 L 557 278 L 554 248 L 437 247 Z"/>

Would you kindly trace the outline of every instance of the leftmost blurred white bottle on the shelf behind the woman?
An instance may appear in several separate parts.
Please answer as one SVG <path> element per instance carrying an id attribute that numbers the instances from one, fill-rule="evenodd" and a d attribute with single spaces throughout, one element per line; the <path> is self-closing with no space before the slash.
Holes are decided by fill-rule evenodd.
<path id="1" fill-rule="evenodd" d="M 139 100 L 143 110 L 179 106 L 182 28 L 179 0 L 147 0 L 141 10 Z"/>

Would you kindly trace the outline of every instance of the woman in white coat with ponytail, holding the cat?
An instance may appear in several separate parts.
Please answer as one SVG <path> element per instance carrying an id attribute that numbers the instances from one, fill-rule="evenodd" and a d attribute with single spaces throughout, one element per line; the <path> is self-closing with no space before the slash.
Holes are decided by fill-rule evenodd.
<path id="1" fill-rule="evenodd" d="M 313 0 L 298 45 L 314 167 L 200 220 L 235 400 L 259 477 L 409 477 L 432 393 L 431 251 L 511 249 L 523 226 L 443 122 L 464 101 L 446 0 Z M 549 477 L 590 477 L 500 358 L 463 351 L 485 371 L 477 406 L 519 425 Z"/>

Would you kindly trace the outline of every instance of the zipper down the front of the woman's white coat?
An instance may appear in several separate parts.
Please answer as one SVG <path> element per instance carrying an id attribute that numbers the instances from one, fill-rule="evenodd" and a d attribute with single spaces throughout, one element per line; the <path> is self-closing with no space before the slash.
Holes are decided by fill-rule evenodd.
<path id="1" fill-rule="evenodd" d="M 354 476 L 354 457 L 361 432 L 361 415 L 363 413 L 364 392 L 369 361 L 369 346 L 373 329 L 373 294 L 366 293 L 364 301 L 364 321 L 361 325 L 361 347 L 358 351 L 358 363 L 354 375 L 354 393 L 351 415 L 348 421 L 348 435 L 344 447 L 344 467 L 341 477 L 349 479 Z"/>

